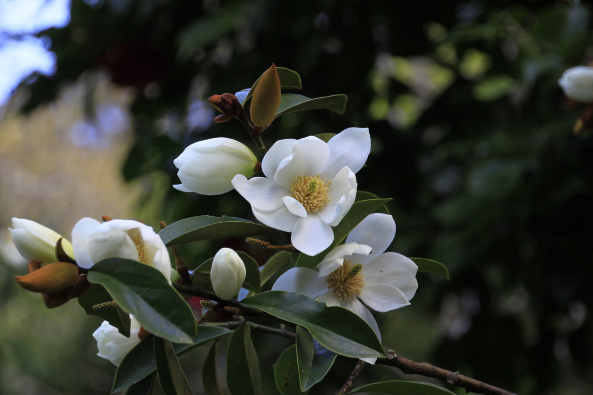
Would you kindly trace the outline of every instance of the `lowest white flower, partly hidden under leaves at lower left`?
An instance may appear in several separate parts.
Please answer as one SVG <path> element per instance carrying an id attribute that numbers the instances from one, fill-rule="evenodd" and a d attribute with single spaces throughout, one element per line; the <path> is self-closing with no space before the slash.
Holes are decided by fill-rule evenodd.
<path id="1" fill-rule="evenodd" d="M 93 332 L 99 349 L 98 356 L 109 359 L 116 366 L 122 363 L 123 357 L 142 340 L 138 336 L 140 323 L 132 314 L 130 314 L 130 321 L 130 337 L 123 336 L 116 327 L 111 326 L 108 321 L 103 321 L 101 326 Z"/>

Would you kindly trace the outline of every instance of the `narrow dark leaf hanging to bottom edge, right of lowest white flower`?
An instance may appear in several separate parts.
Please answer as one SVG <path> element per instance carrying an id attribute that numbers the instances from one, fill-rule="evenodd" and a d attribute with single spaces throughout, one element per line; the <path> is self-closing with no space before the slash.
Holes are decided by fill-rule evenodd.
<path id="1" fill-rule="evenodd" d="M 154 359 L 162 391 L 166 395 L 193 395 L 171 342 L 162 337 L 153 337 Z"/>

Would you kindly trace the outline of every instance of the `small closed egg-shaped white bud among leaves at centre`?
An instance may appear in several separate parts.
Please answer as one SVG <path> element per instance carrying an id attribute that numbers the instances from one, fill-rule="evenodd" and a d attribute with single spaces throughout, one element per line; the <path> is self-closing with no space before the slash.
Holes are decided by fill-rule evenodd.
<path id="1" fill-rule="evenodd" d="M 222 248 L 214 256 L 210 279 L 216 296 L 229 300 L 239 292 L 247 270 L 239 255 L 231 249 Z"/>

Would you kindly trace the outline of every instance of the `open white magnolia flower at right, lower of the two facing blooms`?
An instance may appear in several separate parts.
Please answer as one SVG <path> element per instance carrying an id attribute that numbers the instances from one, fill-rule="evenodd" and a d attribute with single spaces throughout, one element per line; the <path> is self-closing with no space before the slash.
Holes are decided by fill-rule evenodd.
<path id="1" fill-rule="evenodd" d="M 283 273 L 273 290 L 299 292 L 328 306 L 342 306 L 363 318 L 377 333 L 377 321 L 367 307 L 390 311 L 410 304 L 416 294 L 418 267 L 411 259 L 384 251 L 396 234 L 396 223 L 387 214 L 371 214 L 317 266 L 294 267 Z M 342 265 L 336 262 L 342 261 Z M 337 266 L 337 269 L 335 268 Z M 375 358 L 364 359 L 374 363 Z"/>

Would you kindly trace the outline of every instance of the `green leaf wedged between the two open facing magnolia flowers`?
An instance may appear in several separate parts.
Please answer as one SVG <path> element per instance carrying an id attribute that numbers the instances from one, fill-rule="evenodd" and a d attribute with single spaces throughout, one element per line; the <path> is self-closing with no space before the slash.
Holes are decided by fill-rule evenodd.
<path id="1" fill-rule="evenodd" d="M 333 250 L 338 244 L 342 243 L 356 225 L 365 219 L 367 215 L 385 205 L 389 200 L 391 199 L 369 199 L 355 202 L 352 205 L 352 208 L 350 208 L 350 211 L 348 211 L 344 218 L 342 218 L 342 221 L 340 221 L 336 227 L 333 227 L 334 241 L 331 243 L 331 246 L 315 256 L 308 256 L 307 254 L 301 253 L 297 259 L 295 267 L 302 266 L 310 267 L 311 269 L 317 267 L 327 253 Z"/>

